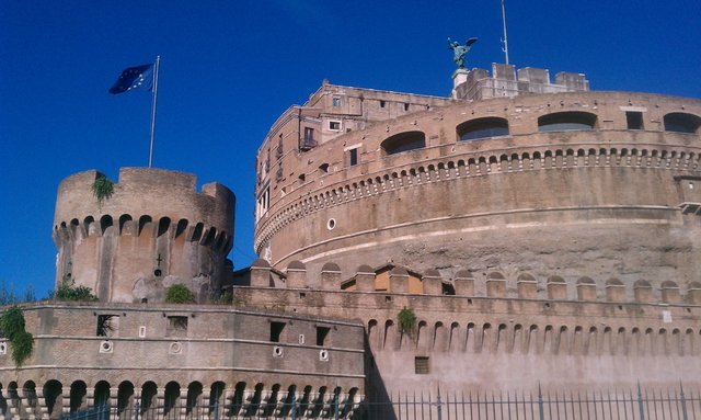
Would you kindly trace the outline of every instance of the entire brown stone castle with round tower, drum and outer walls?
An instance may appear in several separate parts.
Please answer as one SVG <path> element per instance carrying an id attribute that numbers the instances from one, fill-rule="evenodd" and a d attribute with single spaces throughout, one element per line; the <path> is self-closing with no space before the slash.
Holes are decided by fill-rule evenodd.
<path id="1" fill-rule="evenodd" d="M 0 342 L 0 410 L 346 418 L 438 386 L 698 387 L 700 127 L 700 100 L 508 65 L 458 70 L 450 98 L 324 82 L 258 149 L 261 259 L 235 272 L 223 185 L 125 168 L 97 202 L 96 171 L 69 177 L 56 280 L 100 302 L 24 306 L 34 351 L 15 366 Z M 165 304 L 172 284 L 198 303 Z"/>

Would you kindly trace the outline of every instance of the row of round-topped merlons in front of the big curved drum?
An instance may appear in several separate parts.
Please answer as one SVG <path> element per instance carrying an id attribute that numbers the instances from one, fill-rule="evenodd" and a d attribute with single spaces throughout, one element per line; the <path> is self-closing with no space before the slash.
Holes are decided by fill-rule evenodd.
<path id="1" fill-rule="evenodd" d="M 326 262 L 320 272 L 309 272 L 304 263 L 292 261 L 286 271 L 280 272 L 267 261 L 256 260 L 242 283 L 258 288 L 427 295 L 448 299 L 464 296 L 486 299 L 701 305 L 701 282 L 697 281 L 680 285 L 671 280 L 591 279 L 586 273 L 567 276 L 556 273 L 535 275 L 529 272 L 509 274 L 498 270 L 470 269 L 458 270 L 448 279 L 443 277 L 435 269 L 421 273 L 393 263 L 377 268 L 363 264 L 347 279 L 343 277 L 342 272 L 335 262 Z"/>

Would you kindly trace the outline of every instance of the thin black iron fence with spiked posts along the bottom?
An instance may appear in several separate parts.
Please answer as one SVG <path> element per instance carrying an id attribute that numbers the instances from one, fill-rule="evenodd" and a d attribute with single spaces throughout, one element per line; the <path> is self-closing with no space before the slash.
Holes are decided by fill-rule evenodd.
<path id="1" fill-rule="evenodd" d="M 223 420 L 223 419 L 365 419 L 365 420 L 701 420 L 701 395 L 681 384 L 670 389 L 537 390 L 528 393 L 401 394 L 384 402 L 357 407 L 329 404 L 269 406 L 193 406 L 170 408 L 94 407 L 62 419 L 72 420 Z"/>

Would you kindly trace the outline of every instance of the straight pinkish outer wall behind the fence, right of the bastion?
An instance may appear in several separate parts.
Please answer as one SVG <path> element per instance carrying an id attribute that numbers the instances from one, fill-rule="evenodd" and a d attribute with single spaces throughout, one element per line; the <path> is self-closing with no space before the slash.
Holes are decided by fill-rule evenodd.
<path id="1" fill-rule="evenodd" d="M 324 273 L 292 265 L 289 288 L 234 287 L 234 305 L 361 321 L 372 356 L 367 364 L 372 395 L 436 386 L 531 389 L 540 383 L 554 390 L 700 384 L 699 283 L 680 290 L 669 281 L 629 286 L 528 273 L 473 277 L 468 271 L 444 280 L 432 270 L 423 276 L 423 293 L 409 294 L 406 284 L 399 284 L 409 281 L 400 269 L 390 274 L 390 290 L 375 291 L 380 283 L 364 269 L 343 282 L 350 281 L 355 291 L 340 291 L 340 279 L 336 290 L 309 288 L 321 284 L 312 279 Z M 456 295 L 444 295 L 450 288 L 441 284 Z M 399 330 L 402 308 L 416 315 L 412 333 Z M 416 357 L 428 357 L 427 374 L 416 373 Z"/>

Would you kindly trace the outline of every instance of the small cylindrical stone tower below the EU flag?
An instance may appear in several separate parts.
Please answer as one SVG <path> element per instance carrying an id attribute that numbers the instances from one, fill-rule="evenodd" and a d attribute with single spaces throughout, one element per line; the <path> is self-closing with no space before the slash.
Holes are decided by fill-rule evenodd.
<path id="1" fill-rule="evenodd" d="M 100 202 L 102 174 L 76 173 L 58 186 L 54 241 L 56 284 L 71 279 L 102 302 L 160 302 L 181 283 L 199 302 L 216 296 L 231 268 L 235 197 L 219 183 L 162 169 L 122 168 Z"/>

